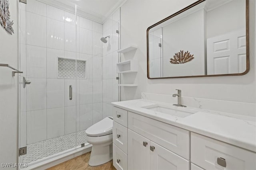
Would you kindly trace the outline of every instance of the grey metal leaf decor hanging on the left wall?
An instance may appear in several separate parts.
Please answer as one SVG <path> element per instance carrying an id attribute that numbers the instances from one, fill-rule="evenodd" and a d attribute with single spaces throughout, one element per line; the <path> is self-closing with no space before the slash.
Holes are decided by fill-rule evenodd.
<path id="1" fill-rule="evenodd" d="M 9 0 L 0 0 L 0 23 L 8 33 L 14 33 L 13 21 L 10 21 Z"/>

